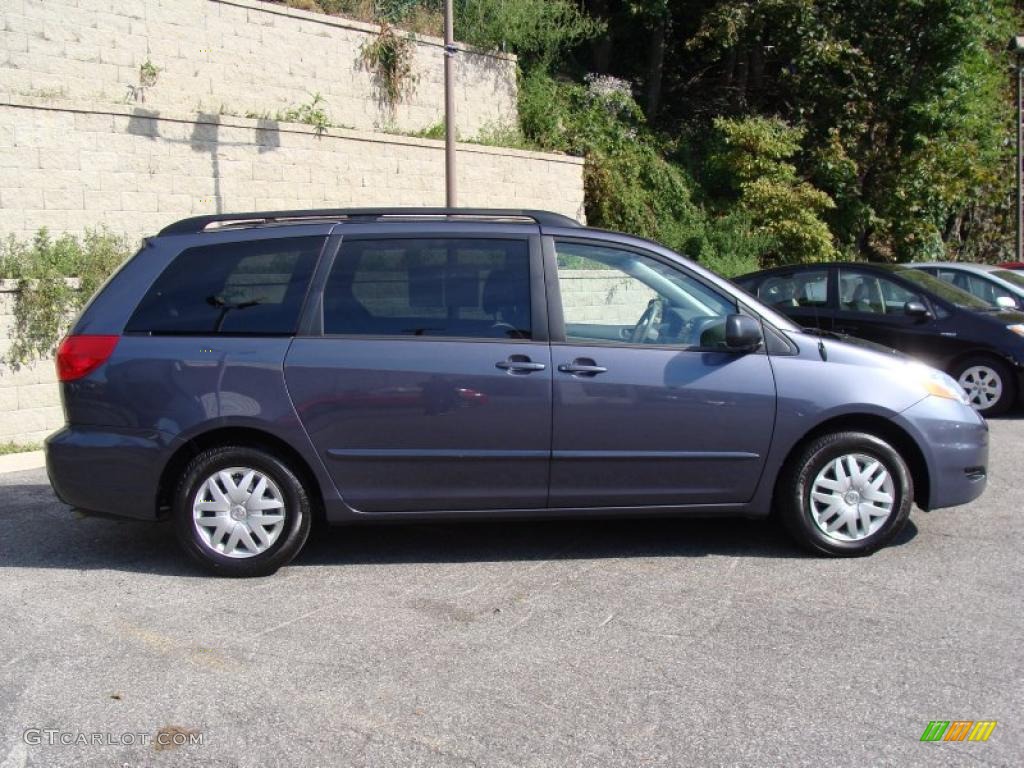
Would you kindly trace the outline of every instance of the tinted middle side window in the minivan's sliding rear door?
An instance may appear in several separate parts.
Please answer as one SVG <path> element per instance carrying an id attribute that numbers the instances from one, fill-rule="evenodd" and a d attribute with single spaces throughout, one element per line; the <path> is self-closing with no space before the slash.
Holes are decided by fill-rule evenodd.
<path id="1" fill-rule="evenodd" d="M 324 289 L 324 333 L 532 337 L 525 240 L 345 240 Z"/>

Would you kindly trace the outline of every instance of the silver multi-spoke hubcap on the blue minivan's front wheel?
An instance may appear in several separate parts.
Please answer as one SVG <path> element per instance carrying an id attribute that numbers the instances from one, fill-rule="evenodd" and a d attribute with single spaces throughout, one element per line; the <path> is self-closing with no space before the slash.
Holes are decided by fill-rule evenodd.
<path id="1" fill-rule="evenodd" d="M 882 462 L 847 454 L 828 462 L 814 478 L 811 516 L 825 536 L 857 542 L 885 524 L 895 498 L 893 479 Z"/>

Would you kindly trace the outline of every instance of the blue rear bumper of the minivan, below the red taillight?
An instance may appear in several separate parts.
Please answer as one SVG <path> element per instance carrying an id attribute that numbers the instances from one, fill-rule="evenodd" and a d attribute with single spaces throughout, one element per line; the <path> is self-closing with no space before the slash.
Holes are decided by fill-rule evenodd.
<path id="1" fill-rule="evenodd" d="M 153 520 L 171 439 L 152 429 L 65 427 L 46 438 L 57 498 L 83 512 Z"/>

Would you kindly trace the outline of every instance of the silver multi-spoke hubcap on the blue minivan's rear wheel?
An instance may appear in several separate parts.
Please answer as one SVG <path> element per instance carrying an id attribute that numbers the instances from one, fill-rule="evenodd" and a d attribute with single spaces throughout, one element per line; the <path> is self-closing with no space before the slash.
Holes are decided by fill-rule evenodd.
<path id="1" fill-rule="evenodd" d="M 262 472 L 231 467 L 210 475 L 193 501 L 200 541 L 219 555 L 254 557 L 285 529 L 285 499 Z"/>

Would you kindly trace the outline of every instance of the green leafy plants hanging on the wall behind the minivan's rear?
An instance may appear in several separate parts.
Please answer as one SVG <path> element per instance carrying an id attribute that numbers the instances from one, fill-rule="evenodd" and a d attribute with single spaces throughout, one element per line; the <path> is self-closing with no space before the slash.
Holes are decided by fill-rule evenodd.
<path id="1" fill-rule="evenodd" d="M 104 229 L 56 240 L 40 229 L 32 242 L 0 244 L 0 279 L 19 288 L 6 361 L 16 369 L 52 354 L 74 315 L 130 255 L 128 242 Z"/>

